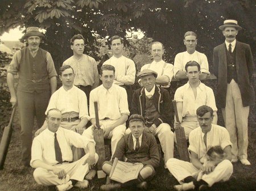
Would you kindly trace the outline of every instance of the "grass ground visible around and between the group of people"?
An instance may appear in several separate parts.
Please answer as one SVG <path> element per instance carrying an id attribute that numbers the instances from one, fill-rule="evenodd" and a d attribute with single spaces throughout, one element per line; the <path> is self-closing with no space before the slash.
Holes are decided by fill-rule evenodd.
<path id="1" fill-rule="evenodd" d="M 3 126 L 7 125 L 11 111 L 6 111 L 1 108 L 1 131 L 0 137 L 2 137 Z M 254 113 L 254 112 L 251 112 Z M 251 115 L 250 113 L 250 115 Z M 251 116 L 254 118 L 254 116 Z M 223 125 L 223 124 L 222 124 Z M 255 169 L 255 123 L 249 121 L 249 148 L 248 148 L 248 159 L 251 162 L 250 166 L 244 166 L 241 163 L 234 164 L 234 173 L 228 182 L 218 183 L 212 186 L 209 190 L 220 191 L 220 190 L 256 190 L 256 169 Z M 20 167 L 20 127 L 18 121 L 18 113 L 16 113 L 14 120 L 14 132 L 11 138 L 11 144 L 9 152 L 7 154 L 5 167 L 0 171 L 0 191 L 43 191 L 48 190 L 47 187 L 36 184 L 33 179 L 32 168 L 22 169 Z M 160 163 L 160 168 L 156 171 L 155 178 L 148 182 L 151 191 L 164 191 L 174 190 L 173 186 L 178 184 L 176 179 L 170 174 L 168 169 L 163 168 L 163 160 Z M 104 179 L 94 178 L 90 181 L 89 187 L 83 190 L 100 190 L 100 186 L 105 184 Z M 78 191 L 82 189 L 72 188 L 71 191 Z M 137 188 L 127 188 L 122 190 L 138 190 Z"/>

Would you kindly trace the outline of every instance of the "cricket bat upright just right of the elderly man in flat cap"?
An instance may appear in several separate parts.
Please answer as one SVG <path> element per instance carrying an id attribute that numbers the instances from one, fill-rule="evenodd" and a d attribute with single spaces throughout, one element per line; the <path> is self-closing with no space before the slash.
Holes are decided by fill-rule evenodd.
<path id="1" fill-rule="evenodd" d="M 179 114 L 177 112 L 176 100 L 172 100 L 172 104 L 174 104 L 174 112 L 175 112 L 176 121 L 180 122 Z M 179 151 L 180 159 L 184 160 L 186 162 L 189 162 L 190 160 L 189 160 L 189 155 L 188 155 L 188 146 L 187 146 L 187 140 L 185 137 L 184 128 L 181 127 L 181 128 L 175 129 L 175 134 L 176 134 L 177 148 Z"/>

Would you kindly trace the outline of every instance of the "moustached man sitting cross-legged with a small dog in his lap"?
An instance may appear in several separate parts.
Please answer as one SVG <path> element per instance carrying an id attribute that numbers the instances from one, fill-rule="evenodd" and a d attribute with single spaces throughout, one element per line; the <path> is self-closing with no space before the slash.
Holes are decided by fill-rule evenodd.
<path id="1" fill-rule="evenodd" d="M 228 130 L 212 124 L 213 109 L 207 105 L 200 106 L 196 114 L 200 126 L 189 134 L 188 150 L 191 152 L 191 163 L 169 159 L 166 164 L 181 184 L 174 186 L 176 190 L 208 190 L 215 182 L 228 181 L 233 173 L 233 165 L 230 162 L 232 143 Z M 214 154 L 208 152 L 215 146 L 220 146 L 225 152 L 223 155 L 219 152 L 222 155 L 221 160 L 214 159 Z M 209 156 L 212 156 L 211 160 Z"/>

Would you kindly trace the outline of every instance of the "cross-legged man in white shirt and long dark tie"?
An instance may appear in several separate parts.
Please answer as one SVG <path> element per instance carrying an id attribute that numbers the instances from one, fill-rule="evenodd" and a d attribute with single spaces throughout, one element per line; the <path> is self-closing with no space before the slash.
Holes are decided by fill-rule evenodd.
<path id="1" fill-rule="evenodd" d="M 49 109 L 46 122 L 47 129 L 34 138 L 31 148 L 30 165 L 36 168 L 35 181 L 46 186 L 56 185 L 59 191 L 69 190 L 73 186 L 86 188 L 88 180 L 84 180 L 84 177 L 98 160 L 94 141 L 61 128 L 59 109 Z M 88 148 L 89 153 L 72 162 L 71 146 Z"/>

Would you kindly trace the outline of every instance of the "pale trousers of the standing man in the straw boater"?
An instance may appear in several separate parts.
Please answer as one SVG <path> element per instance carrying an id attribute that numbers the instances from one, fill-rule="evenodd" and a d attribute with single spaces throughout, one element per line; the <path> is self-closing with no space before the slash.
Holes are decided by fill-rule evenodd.
<path id="1" fill-rule="evenodd" d="M 232 142 L 232 158 L 247 159 L 248 116 L 250 107 L 243 107 L 240 88 L 232 79 L 226 92 L 226 107 L 222 115 Z"/>

